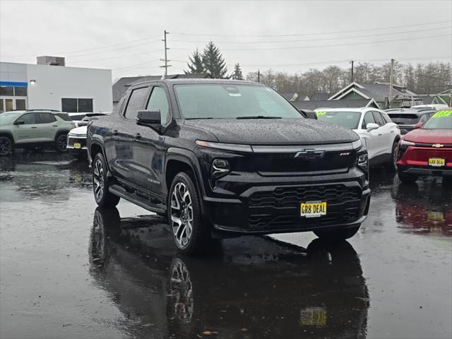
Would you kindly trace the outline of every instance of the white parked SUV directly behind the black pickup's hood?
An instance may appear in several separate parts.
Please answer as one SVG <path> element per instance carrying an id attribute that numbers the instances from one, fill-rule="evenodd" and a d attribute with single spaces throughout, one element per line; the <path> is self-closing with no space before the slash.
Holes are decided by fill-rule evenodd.
<path id="1" fill-rule="evenodd" d="M 367 146 L 369 165 L 396 169 L 400 129 L 388 114 L 373 107 L 316 109 L 317 119 L 355 131 Z"/>

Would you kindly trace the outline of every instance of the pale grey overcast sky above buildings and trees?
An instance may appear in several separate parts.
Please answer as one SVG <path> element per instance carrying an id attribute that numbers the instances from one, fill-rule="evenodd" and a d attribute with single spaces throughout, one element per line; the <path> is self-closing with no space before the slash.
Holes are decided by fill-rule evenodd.
<path id="1" fill-rule="evenodd" d="M 167 30 L 169 73 L 212 40 L 232 72 L 289 73 L 349 60 L 452 61 L 452 1 L 8 1 L 0 0 L 1 61 L 159 75 Z M 317 47 L 315 47 L 317 46 Z"/>

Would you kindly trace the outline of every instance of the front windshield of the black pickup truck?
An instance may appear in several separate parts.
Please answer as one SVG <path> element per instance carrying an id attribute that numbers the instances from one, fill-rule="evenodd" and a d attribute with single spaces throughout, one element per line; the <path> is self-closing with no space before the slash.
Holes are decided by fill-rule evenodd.
<path id="1" fill-rule="evenodd" d="M 174 85 L 185 119 L 304 119 L 274 90 L 258 85 Z"/>

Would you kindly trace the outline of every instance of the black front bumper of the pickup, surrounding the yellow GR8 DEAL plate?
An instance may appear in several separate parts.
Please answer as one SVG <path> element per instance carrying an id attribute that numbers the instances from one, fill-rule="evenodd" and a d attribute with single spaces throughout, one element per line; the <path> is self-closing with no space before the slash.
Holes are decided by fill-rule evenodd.
<path id="1" fill-rule="evenodd" d="M 358 181 L 350 178 L 341 181 L 333 177 L 338 176 L 311 177 L 289 183 L 287 178 L 280 178 L 285 183 L 247 185 L 248 188 L 234 198 L 204 197 L 206 217 L 214 232 L 228 234 L 307 232 L 360 225 L 369 210 L 370 189 L 362 189 Z M 300 203 L 306 201 L 326 201 L 326 215 L 301 217 Z"/>

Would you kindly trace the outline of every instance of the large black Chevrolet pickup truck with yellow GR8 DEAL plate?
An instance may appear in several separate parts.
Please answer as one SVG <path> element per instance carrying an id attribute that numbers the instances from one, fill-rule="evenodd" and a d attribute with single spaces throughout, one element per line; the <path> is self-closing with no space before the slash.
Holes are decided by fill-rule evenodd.
<path id="1" fill-rule="evenodd" d="M 245 81 L 131 86 L 88 126 L 99 206 L 124 198 L 167 215 L 186 253 L 212 238 L 314 231 L 352 237 L 367 216 L 367 150 L 353 131 L 305 119 Z"/>

